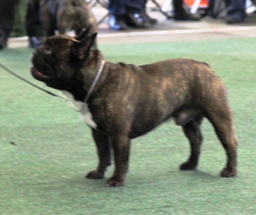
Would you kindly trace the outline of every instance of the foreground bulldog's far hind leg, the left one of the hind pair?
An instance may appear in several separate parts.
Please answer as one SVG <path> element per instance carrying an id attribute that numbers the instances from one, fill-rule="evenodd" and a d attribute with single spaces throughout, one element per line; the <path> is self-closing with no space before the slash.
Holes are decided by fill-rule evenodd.
<path id="1" fill-rule="evenodd" d="M 200 125 L 203 120 L 202 114 L 198 114 L 193 120 L 183 126 L 183 131 L 190 143 L 191 154 L 188 161 L 180 165 L 181 170 L 193 170 L 196 168 L 200 155 L 200 148 L 203 136 L 200 131 Z"/>

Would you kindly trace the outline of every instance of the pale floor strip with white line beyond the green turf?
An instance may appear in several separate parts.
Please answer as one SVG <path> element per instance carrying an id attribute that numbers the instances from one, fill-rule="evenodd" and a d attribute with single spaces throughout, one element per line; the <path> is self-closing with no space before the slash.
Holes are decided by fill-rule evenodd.
<path id="1" fill-rule="evenodd" d="M 228 25 L 224 18 L 212 19 L 209 16 L 200 21 L 175 21 L 167 19 L 156 5 L 148 1 L 147 12 L 156 18 L 158 23 L 149 29 L 130 29 L 126 31 L 114 31 L 108 27 L 108 16 L 99 24 L 98 41 L 104 43 L 128 43 L 128 42 L 161 42 L 202 40 L 210 38 L 234 38 L 256 37 L 256 13 L 248 14 L 243 23 Z M 162 3 L 162 0 L 158 1 Z M 98 21 L 108 14 L 108 11 L 96 5 L 92 12 Z M 9 47 L 28 46 L 28 38 L 10 38 Z"/>

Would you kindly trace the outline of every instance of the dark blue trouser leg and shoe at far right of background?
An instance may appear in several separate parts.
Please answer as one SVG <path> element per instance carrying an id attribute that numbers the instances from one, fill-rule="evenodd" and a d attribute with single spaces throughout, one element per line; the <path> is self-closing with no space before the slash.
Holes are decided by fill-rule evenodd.
<path id="1" fill-rule="evenodd" d="M 226 21 L 228 24 L 243 22 L 246 17 L 245 0 L 229 0 L 227 13 Z"/>

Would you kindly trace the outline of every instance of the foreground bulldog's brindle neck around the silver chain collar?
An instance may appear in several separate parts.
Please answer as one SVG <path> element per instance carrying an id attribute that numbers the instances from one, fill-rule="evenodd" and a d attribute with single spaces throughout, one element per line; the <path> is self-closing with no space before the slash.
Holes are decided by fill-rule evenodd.
<path id="1" fill-rule="evenodd" d="M 85 96 L 88 94 L 88 91 L 99 72 L 103 59 L 103 55 L 99 50 L 90 50 L 89 58 L 82 62 L 82 66 L 76 71 L 76 77 L 74 78 L 70 89 L 67 90 L 74 96 L 75 100 L 84 101 Z M 107 78 L 107 73 L 108 70 L 103 67 L 91 96 L 93 96 L 93 94 L 97 92 L 100 86 L 104 83 Z"/>

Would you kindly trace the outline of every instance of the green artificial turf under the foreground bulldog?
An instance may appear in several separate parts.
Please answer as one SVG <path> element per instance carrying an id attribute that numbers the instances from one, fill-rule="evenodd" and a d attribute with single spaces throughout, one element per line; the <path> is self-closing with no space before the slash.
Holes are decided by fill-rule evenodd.
<path id="1" fill-rule="evenodd" d="M 188 141 L 181 127 L 168 121 L 132 140 L 124 187 L 85 179 L 98 161 L 91 131 L 79 113 L 0 68 L 0 214 L 255 215 L 255 38 L 100 45 L 100 50 L 109 61 L 135 65 L 178 57 L 209 63 L 228 87 L 238 175 L 219 178 L 226 155 L 204 120 L 195 171 L 179 170 L 189 155 Z M 32 51 L 1 50 L 0 63 L 47 88 L 29 73 Z M 107 177 L 112 171 L 113 166 Z"/>

